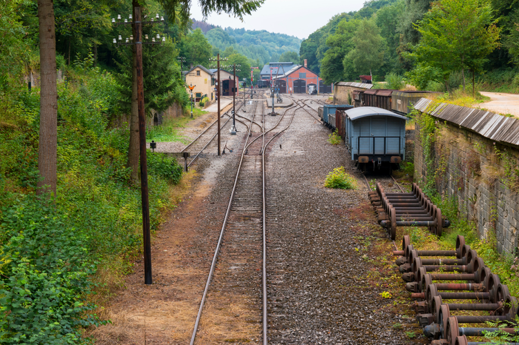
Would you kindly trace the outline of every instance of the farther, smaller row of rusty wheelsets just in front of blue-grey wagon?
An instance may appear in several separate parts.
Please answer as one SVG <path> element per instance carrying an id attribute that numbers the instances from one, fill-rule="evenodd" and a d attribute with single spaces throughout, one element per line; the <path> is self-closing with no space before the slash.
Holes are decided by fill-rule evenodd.
<path id="1" fill-rule="evenodd" d="M 388 230 L 391 239 L 397 236 L 397 226 L 427 226 L 431 233 L 440 236 L 442 229 L 451 225 L 417 184 L 413 184 L 411 193 L 386 193 L 377 183 L 377 189 L 370 191 L 368 197 L 377 210 L 379 224 Z"/>

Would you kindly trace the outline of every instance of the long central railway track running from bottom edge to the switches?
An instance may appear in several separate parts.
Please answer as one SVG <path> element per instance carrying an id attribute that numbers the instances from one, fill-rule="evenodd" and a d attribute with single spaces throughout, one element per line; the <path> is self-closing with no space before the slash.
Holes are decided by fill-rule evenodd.
<path id="1" fill-rule="evenodd" d="M 258 105 L 258 103 L 260 104 Z M 263 344 L 267 344 L 265 148 L 281 132 L 290 127 L 298 106 L 287 108 L 276 124 L 268 130 L 265 130 L 265 126 L 256 123 L 262 131 L 256 132 L 257 134 L 253 136 L 252 127 L 258 106 L 261 107 L 261 117 L 265 123 L 263 105 L 263 102 L 256 102 L 252 117 L 247 119 L 249 121 L 247 134 L 240 152 L 234 186 L 209 269 L 190 344 L 195 343 L 206 302 L 211 301 L 211 305 L 218 305 L 219 309 L 228 310 L 227 308 L 231 308 L 240 299 L 252 299 L 254 303 L 254 299 L 259 296 L 261 296 L 262 305 L 261 320 L 252 317 L 249 322 L 263 325 Z M 290 112 L 292 112 L 292 116 L 290 116 Z M 262 248 L 262 250 L 258 250 L 258 248 Z M 261 282 L 258 279 L 258 271 L 261 271 Z M 209 294 L 209 290 L 211 290 L 211 294 Z M 212 296 L 215 298 L 213 299 Z M 224 296 L 225 298 L 218 298 Z"/>

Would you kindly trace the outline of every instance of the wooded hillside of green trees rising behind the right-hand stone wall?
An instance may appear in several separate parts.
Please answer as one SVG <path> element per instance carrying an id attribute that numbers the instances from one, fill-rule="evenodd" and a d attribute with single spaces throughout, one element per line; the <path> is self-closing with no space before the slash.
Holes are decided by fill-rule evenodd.
<path id="1" fill-rule="evenodd" d="M 445 90 L 464 87 L 474 72 L 480 87 L 513 89 L 518 21 L 519 3 L 511 0 L 371 0 L 332 17 L 299 53 L 328 82 L 371 73 L 378 81 L 399 75 L 419 88 Z"/>

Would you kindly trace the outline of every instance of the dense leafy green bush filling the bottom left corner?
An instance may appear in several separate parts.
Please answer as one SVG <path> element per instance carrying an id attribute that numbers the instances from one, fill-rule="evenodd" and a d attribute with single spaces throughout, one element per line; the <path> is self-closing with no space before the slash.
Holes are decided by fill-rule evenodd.
<path id="1" fill-rule="evenodd" d="M 27 195 L 1 210 L 0 224 L 2 251 L 11 260 L 0 276 L 2 344 L 78 344 L 80 327 L 106 323 L 81 302 L 95 265 L 68 215 Z"/>

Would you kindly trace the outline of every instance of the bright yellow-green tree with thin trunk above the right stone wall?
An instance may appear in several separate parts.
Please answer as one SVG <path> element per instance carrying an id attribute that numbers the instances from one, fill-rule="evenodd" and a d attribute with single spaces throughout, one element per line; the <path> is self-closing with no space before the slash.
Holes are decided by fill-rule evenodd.
<path id="1" fill-rule="evenodd" d="M 487 0 L 440 0 L 433 3 L 417 30 L 422 34 L 413 54 L 418 63 L 440 68 L 445 75 L 461 70 L 481 71 L 486 57 L 500 46 Z"/>

